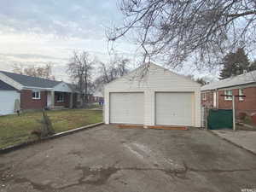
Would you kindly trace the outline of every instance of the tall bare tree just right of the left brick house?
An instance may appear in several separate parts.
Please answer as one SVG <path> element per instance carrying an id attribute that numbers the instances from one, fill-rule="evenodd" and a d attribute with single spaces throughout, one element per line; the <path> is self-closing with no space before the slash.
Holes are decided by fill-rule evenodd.
<path id="1" fill-rule="evenodd" d="M 73 57 L 67 64 L 67 73 L 70 74 L 71 79 L 78 85 L 83 105 L 88 103 L 88 94 L 92 86 L 91 73 L 94 63 L 94 59 L 91 59 L 87 52 L 83 51 L 79 53 L 73 51 Z"/>

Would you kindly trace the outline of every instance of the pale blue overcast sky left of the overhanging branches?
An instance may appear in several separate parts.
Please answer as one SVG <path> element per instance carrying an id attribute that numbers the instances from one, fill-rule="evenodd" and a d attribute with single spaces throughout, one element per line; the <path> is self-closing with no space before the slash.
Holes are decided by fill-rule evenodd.
<path id="1" fill-rule="evenodd" d="M 29 66 L 51 62 L 58 80 L 69 80 L 65 66 L 74 49 L 89 51 L 108 61 L 106 27 L 122 21 L 115 0 L 0 3 L 0 70 L 12 71 L 15 63 Z M 131 58 L 136 53 L 136 47 L 125 40 L 115 44 L 115 49 Z M 187 67 L 180 73 L 191 74 L 191 69 Z"/>

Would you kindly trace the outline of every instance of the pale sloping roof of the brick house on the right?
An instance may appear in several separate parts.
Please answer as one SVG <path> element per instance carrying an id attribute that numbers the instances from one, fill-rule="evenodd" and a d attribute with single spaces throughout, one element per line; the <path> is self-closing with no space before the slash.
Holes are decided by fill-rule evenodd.
<path id="1" fill-rule="evenodd" d="M 251 84 L 256 82 L 256 70 L 229 79 L 219 80 L 211 84 L 206 84 L 201 87 L 201 90 L 216 90 L 220 88 L 232 87 L 241 84 Z"/>

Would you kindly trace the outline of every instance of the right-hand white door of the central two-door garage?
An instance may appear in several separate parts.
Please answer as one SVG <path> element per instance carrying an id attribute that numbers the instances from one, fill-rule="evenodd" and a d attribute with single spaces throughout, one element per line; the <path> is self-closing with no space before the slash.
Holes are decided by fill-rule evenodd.
<path id="1" fill-rule="evenodd" d="M 192 125 L 192 93 L 156 93 L 156 125 Z"/>

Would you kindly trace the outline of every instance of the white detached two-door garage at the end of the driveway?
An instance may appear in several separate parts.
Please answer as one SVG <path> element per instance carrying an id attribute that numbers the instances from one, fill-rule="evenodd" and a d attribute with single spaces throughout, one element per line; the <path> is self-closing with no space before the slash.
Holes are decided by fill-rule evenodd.
<path id="1" fill-rule="evenodd" d="M 148 64 L 106 84 L 106 124 L 201 126 L 201 85 Z"/>

